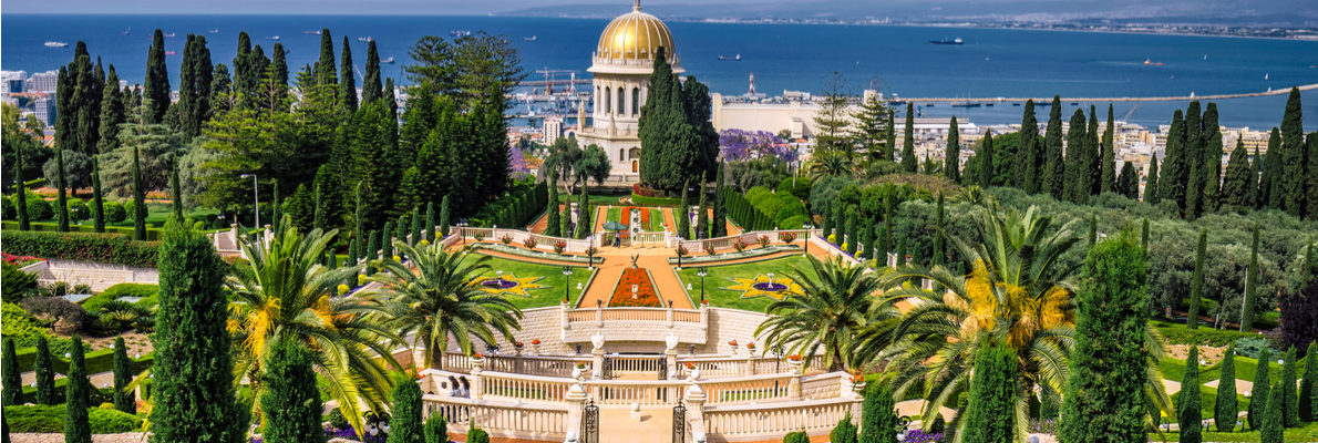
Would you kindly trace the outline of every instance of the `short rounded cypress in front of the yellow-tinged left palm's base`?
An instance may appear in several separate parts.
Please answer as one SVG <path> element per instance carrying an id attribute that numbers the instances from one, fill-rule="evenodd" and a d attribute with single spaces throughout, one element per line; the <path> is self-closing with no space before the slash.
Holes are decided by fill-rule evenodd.
<path id="1" fill-rule="evenodd" d="M 320 428 L 320 390 L 316 388 L 315 357 L 293 340 L 279 340 L 265 363 L 265 392 L 261 410 L 265 427 L 261 438 L 270 443 L 315 443 L 326 440 Z"/>

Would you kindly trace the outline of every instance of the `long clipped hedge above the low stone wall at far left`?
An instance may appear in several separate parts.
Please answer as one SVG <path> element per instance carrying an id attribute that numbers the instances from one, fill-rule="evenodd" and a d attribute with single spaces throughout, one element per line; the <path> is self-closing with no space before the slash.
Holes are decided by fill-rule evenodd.
<path id="1" fill-rule="evenodd" d="M 156 241 L 117 233 L 4 229 L 4 251 L 21 256 L 156 268 L 157 249 Z"/>

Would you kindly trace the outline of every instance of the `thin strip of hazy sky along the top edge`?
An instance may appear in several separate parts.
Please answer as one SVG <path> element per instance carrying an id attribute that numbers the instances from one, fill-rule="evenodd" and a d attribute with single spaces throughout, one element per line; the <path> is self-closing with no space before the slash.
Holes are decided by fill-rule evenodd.
<path id="1" fill-rule="evenodd" d="M 612 17 L 631 0 L 42 0 L 3 13 L 157 15 L 505 15 Z M 605 8 L 600 8 L 604 5 Z M 1313 0 L 645 0 L 680 18 L 1145 20 L 1318 26 Z"/>

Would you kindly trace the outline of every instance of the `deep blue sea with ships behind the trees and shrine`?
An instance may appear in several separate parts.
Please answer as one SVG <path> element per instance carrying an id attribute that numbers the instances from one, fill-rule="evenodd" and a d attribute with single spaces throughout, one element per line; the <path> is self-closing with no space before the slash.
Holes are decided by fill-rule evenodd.
<path id="1" fill-rule="evenodd" d="M 625 12 L 618 9 L 619 15 Z M 279 36 L 294 67 L 312 63 L 319 54 L 320 37 L 308 32 L 330 28 L 336 53 L 343 36 L 348 36 L 358 66 L 365 59 L 366 44 L 357 37 L 369 36 L 382 58 L 397 59 L 382 66 L 384 74 L 406 83 L 399 76 L 402 66 L 410 62 L 407 47 L 422 36 L 448 36 L 452 30 L 507 36 L 521 49 L 530 79 L 540 79 L 534 73 L 540 69 L 588 75 L 590 53 L 608 22 L 531 17 L 140 15 L 4 15 L 0 20 L 4 70 L 58 69 L 70 61 L 72 44 L 82 40 L 94 55 L 115 65 L 120 78 L 130 83 L 144 78 L 156 28 L 177 34 L 166 40 L 166 49 L 178 54 L 183 51 L 186 34 L 206 36 L 216 63 L 232 63 L 239 30 L 246 30 L 266 53 L 274 44 L 268 38 Z M 1318 83 L 1318 41 L 921 26 L 676 21 L 668 26 L 687 73 L 712 91 L 729 95 L 746 92 L 751 73 L 757 90 L 770 95 L 784 90 L 820 92 L 834 71 L 842 74 L 846 88 L 854 94 L 873 84 L 884 94 L 912 98 L 1181 96 Z M 532 36 L 534 41 L 527 40 Z M 965 45 L 928 44 L 958 37 Z M 45 47 L 45 41 L 65 41 L 70 46 Z M 741 54 L 742 61 L 718 61 L 718 55 L 734 54 Z M 175 79 L 181 58 L 169 57 Z M 1318 92 L 1305 92 L 1304 102 L 1306 128 L 1313 131 L 1318 128 Z M 1072 105 L 1065 105 L 1064 115 L 1069 116 Z M 1104 113 L 1106 103 L 1098 105 Z M 1166 124 L 1172 109 L 1184 105 L 1115 103 L 1115 112 L 1118 119 L 1130 113 L 1130 121 L 1156 127 Z M 1226 125 L 1271 128 L 1280 124 L 1284 105 L 1282 95 L 1226 100 L 1219 109 Z M 925 116 L 957 112 L 977 124 L 1020 121 L 1020 107 L 1011 104 L 956 111 L 938 104 L 923 112 Z M 1046 119 L 1046 109 L 1041 113 L 1040 119 Z"/>

